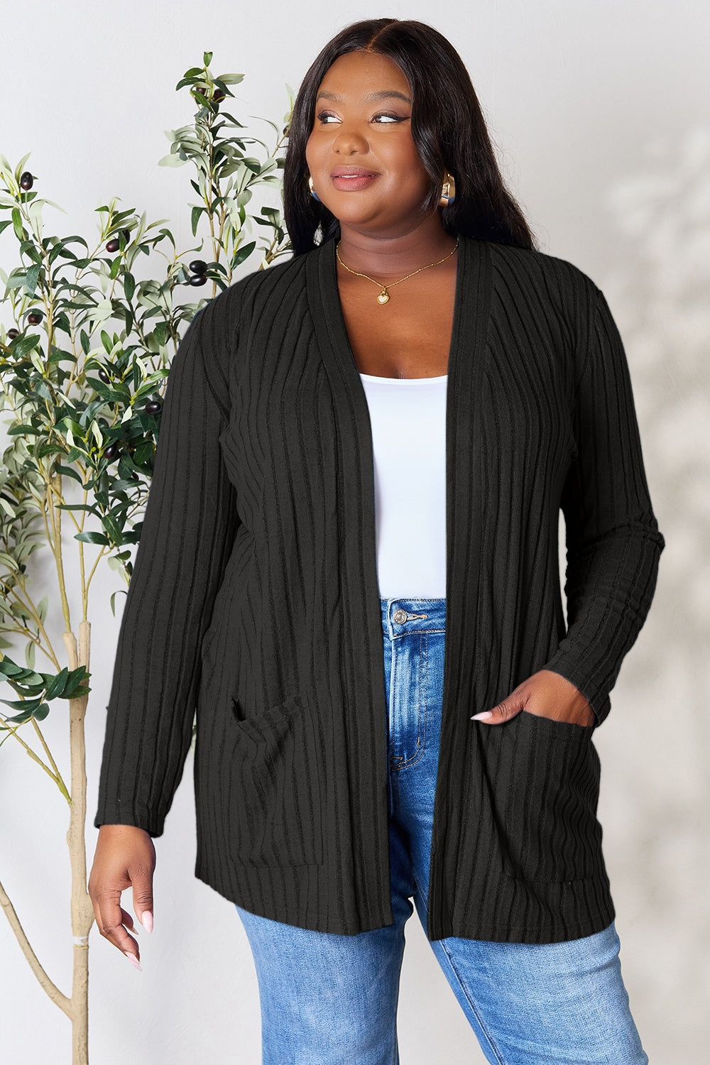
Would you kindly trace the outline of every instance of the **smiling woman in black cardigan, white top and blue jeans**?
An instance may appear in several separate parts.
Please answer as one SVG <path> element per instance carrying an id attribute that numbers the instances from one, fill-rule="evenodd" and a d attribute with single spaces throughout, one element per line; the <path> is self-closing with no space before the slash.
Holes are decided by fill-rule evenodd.
<path id="1" fill-rule="evenodd" d="M 150 924 L 197 705 L 196 875 L 249 936 L 265 1063 L 398 1061 L 412 899 L 489 1061 L 645 1062 L 592 733 L 663 538 L 605 297 L 534 249 L 419 22 L 323 49 L 284 204 L 294 258 L 213 299 L 170 371 L 109 704 L 101 934 L 137 964 L 120 891 Z"/>

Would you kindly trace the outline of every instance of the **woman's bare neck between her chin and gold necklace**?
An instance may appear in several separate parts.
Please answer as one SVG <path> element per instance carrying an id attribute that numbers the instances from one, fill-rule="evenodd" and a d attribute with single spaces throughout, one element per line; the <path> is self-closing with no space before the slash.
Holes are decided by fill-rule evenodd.
<path id="1" fill-rule="evenodd" d="M 412 229 L 398 233 L 375 233 L 341 223 L 340 255 L 350 269 L 374 274 L 385 280 L 442 259 L 456 247 L 436 211 Z"/>

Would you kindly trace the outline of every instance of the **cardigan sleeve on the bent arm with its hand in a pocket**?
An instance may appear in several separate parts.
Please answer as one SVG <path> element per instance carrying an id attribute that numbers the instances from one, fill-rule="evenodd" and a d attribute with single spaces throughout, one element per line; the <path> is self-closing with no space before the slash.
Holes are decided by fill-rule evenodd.
<path id="1" fill-rule="evenodd" d="M 545 669 L 572 681 L 600 723 L 646 619 L 664 540 L 654 515 L 622 339 L 594 285 L 577 384 L 577 454 L 563 487 L 567 633 Z"/>

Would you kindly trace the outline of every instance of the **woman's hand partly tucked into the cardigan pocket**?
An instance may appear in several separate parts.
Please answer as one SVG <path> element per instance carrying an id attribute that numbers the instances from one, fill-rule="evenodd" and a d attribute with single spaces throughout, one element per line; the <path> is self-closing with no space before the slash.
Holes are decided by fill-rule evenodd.
<path id="1" fill-rule="evenodd" d="M 548 669 L 533 673 L 492 710 L 475 714 L 472 720 L 501 725 L 521 711 L 587 727 L 595 722 L 594 710 L 579 688 L 561 673 Z"/>

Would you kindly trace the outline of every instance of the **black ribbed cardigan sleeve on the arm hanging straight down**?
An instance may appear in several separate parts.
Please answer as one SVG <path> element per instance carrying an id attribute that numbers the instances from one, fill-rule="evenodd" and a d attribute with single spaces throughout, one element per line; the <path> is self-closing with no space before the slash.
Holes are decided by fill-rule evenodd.
<path id="1" fill-rule="evenodd" d="M 224 304 L 191 322 L 165 387 L 153 476 L 121 619 L 94 824 L 160 836 L 192 741 L 200 645 L 238 524 L 219 435 Z"/>

